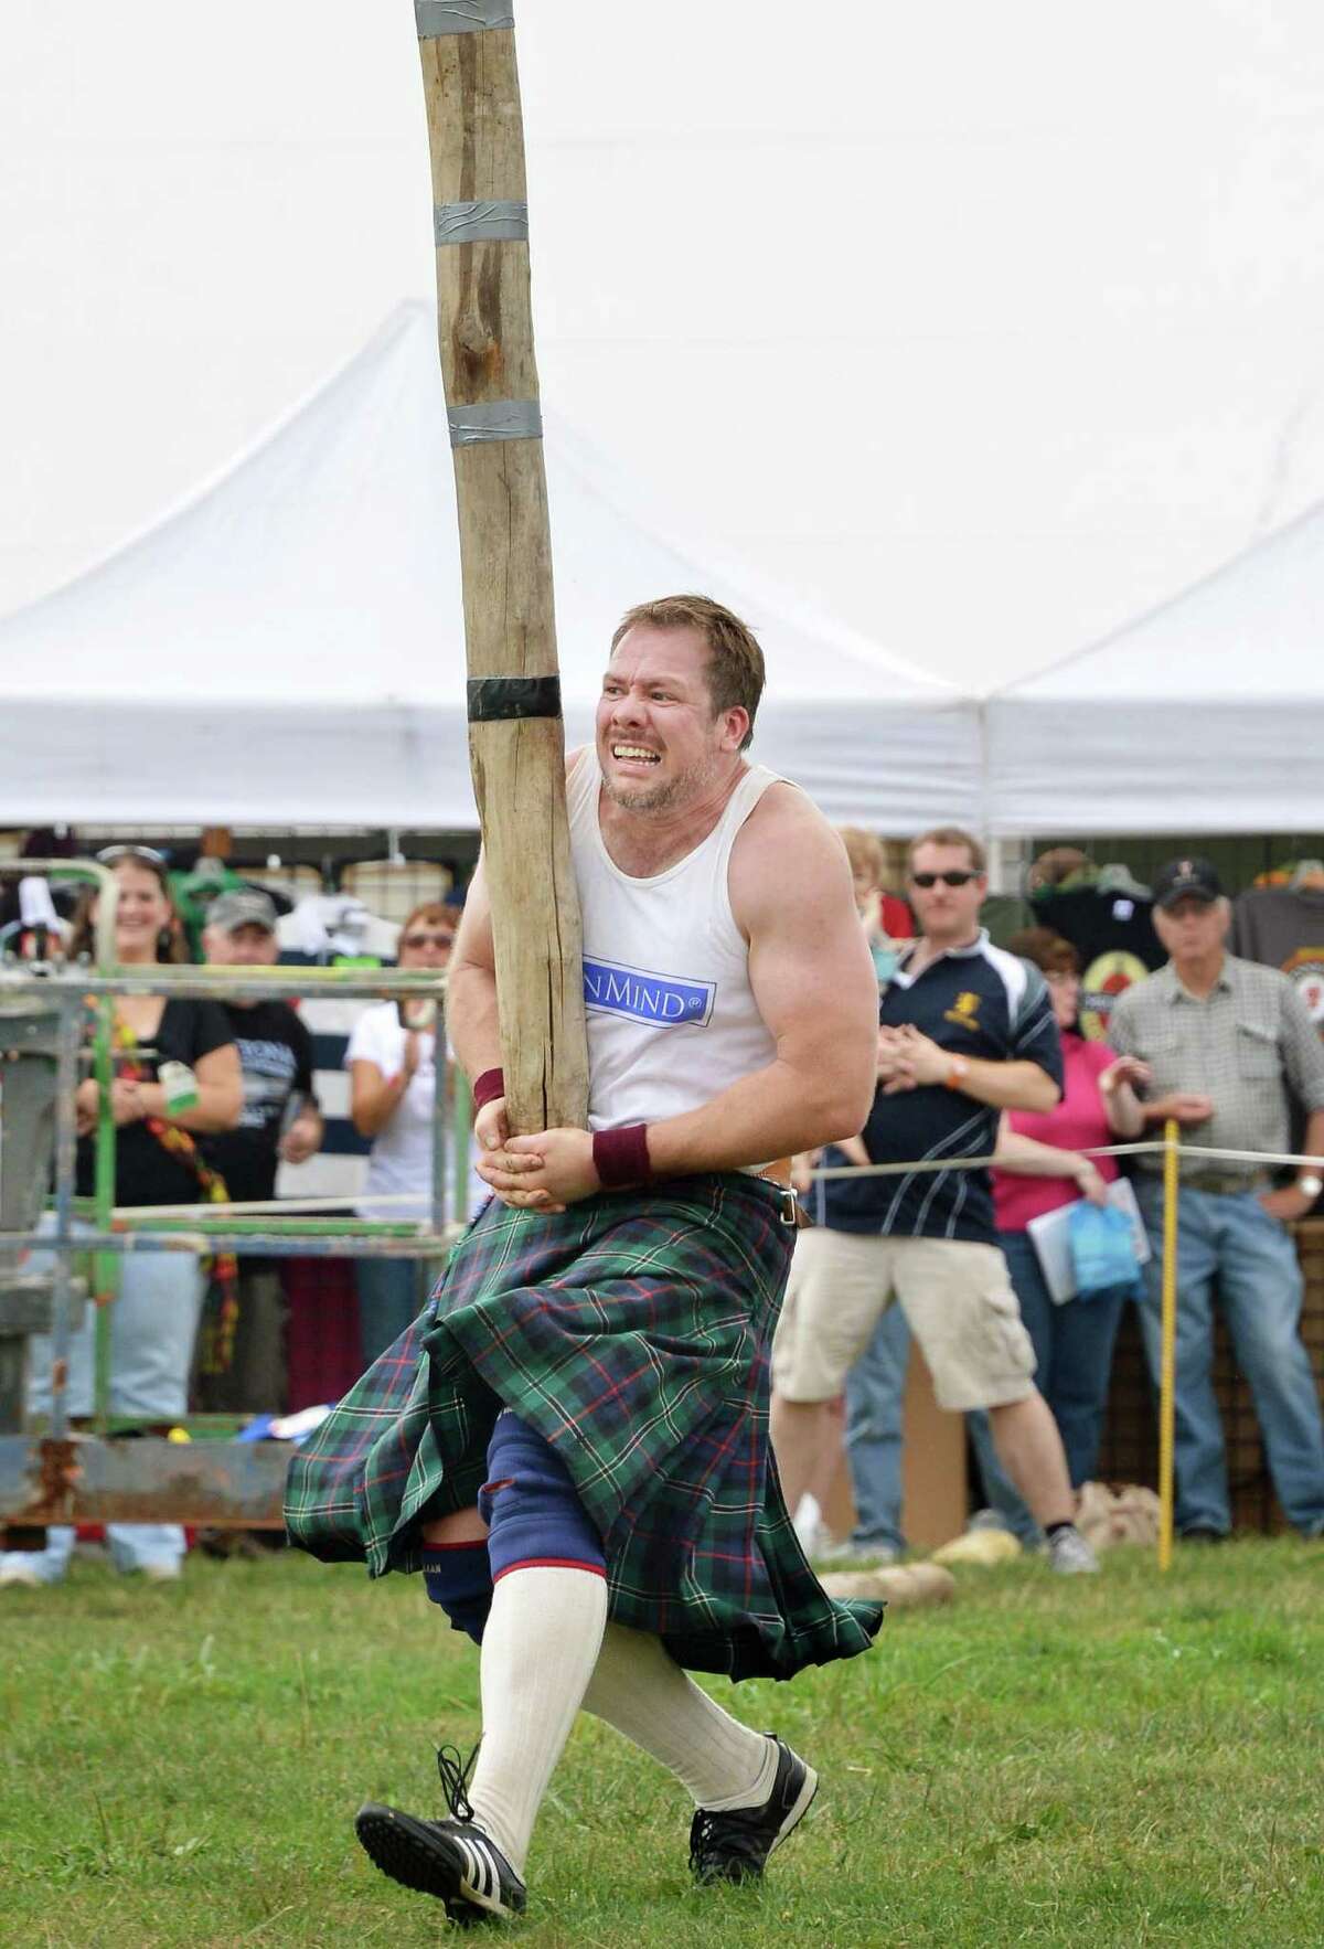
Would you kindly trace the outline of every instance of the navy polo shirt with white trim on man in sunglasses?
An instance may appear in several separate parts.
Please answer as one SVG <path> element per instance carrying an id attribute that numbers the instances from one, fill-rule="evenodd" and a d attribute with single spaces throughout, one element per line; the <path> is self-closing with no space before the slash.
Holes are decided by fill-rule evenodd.
<path id="1" fill-rule="evenodd" d="M 1061 1089 L 1061 1041 L 1048 984 L 1036 967 L 989 943 L 979 930 L 970 947 L 950 947 L 919 974 L 911 953 L 882 990 L 884 1027 L 913 1023 L 954 1056 L 983 1062 L 1038 1062 Z M 1001 1111 L 942 1084 L 874 1095 L 864 1125 L 872 1164 L 933 1158 L 987 1158 Z M 829 1150 L 826 1164 L 843 1164 Z M 818 1181 L 818 1222 L 837 1232 L 896 1238 L 956 1238 L 997 1243 L 987 1169 L 903 1171 L 896 1177 Z"/>

